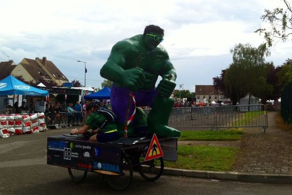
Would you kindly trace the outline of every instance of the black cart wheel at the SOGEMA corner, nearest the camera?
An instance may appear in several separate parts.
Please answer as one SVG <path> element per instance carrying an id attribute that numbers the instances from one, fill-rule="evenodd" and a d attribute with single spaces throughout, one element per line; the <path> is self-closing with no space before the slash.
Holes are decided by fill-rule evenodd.
<path id="1" fill-rule="evenodd" d="M 123 156 L 121 165 L 121 175 L 105 175 L 108 183 L 110 184 L 110 187 L 119 191 L 128 188 L 133 178 L 133 167 L 130 159 L 126 156 Z"/>

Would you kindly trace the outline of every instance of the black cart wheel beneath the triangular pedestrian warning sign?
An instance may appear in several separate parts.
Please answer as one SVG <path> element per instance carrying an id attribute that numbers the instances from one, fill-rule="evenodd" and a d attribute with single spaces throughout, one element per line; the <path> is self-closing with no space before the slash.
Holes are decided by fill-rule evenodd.
<path id="1" fill-rule="evenodd" d="M 148 181 L 158 179 L 164 170 L 164 160 L 162 157 L 145 161 L 145 154 L 143 153 L 140 157 L 140 164 L 138 172 Z"/>

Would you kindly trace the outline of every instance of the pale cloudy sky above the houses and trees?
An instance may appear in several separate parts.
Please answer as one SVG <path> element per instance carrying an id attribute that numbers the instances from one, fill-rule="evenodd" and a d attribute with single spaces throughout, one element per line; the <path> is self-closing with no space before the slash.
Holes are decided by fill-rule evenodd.
<path id="1" fill-rule="evenodd" d="M 282 0 L 1 0 L 0 61 L 46 57 L 83 85 L 85 64 L 77 60 L 85 61 L 86 86 L 101 88 L 111 47 L 155 24 L 164 29 L 176 89 L 195 92 L 229 67 L 235 45 L 263 43 L 254 31 L 267 25 L 264 10 L 276 7 Z M 278 41 L 267 61 L 278 66 L 291 56 L 290 40 Z"/>

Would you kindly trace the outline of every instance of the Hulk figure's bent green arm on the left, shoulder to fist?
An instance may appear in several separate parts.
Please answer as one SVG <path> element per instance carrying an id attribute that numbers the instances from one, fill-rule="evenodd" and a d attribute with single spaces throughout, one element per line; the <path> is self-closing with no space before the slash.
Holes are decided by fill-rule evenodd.
<path id="1" fill-rule="evenodd" d="M 143 69 L 126 64 L 126 57 L 130 55 L 131 43 L 117 42 L 111 49 L 110 57 L 100 70 L 100 75 L 131 91 L 137 91 L 144 84 Z M 127 67 L 128 65 L 128 67 Z"/>

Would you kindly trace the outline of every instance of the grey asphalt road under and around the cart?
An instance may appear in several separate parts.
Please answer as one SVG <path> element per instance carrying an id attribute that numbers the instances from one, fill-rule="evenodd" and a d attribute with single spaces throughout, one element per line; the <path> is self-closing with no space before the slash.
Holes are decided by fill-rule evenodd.
<path id="1" fill-rule="evenodd" d="M 66 168 L 46 164 L 47 137 L 68 129 L 0 138 L 0 195 L 291 195 L 292 185 L 242 183 L 162 176 L 154 182 L 135 174 L 126 191 L 110 188 L 98 174 L 73 183 Z"/>

